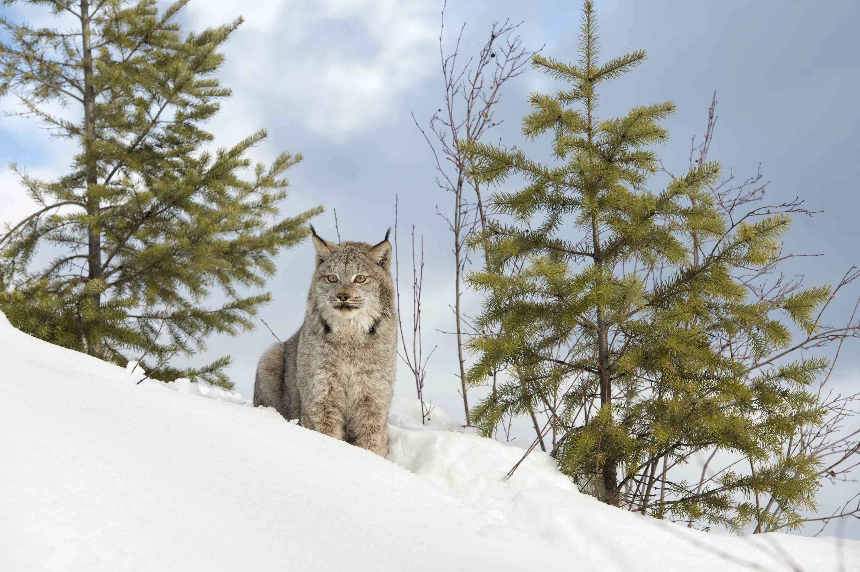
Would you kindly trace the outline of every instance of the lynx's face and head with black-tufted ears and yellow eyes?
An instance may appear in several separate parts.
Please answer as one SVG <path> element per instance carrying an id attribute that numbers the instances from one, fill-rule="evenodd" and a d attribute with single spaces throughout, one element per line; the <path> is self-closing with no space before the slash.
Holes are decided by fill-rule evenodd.
<path id="1" fill-rule="evenodd" d="M 312 228 L 312 227 L 311 227 Z M 394 289 L 390 275 L 388 234 L 376 246 L 365 242 L 335 244 L 313 234 L 316 271 L 310 297 L 332 329 L 357 327 L 372 332 L 388 311 Z"/>

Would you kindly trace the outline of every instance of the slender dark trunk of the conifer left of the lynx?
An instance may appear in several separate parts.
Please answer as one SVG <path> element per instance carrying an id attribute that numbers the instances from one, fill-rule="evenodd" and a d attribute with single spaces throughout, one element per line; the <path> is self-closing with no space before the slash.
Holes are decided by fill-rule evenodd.
<path id="1" fill-rule="evenodd" d="M 89 0 L 81 0 L 81 29 L 83 33 L 83 156 L 86 163 L 87 177 L 87 215 L 98 216 L 101 204 L 95 196 L 95 185 L 98 183 L 95 159 L 92 147 L 95 142 L 95 87 L 93 86 L 92 46 L 89 34 Z M 88 245 L 88 279 L 101 278 L 101 234 L 97 226 L 90 223 Z M 101 306 L 101 295 L 93 295 L 95 307 Z M 97 327 L 97 326 L 96 326 Z M 103 348 L 101 339 L 92 331 L 87 332 L 87 352 L 90 356 L 101 358 Z"/>

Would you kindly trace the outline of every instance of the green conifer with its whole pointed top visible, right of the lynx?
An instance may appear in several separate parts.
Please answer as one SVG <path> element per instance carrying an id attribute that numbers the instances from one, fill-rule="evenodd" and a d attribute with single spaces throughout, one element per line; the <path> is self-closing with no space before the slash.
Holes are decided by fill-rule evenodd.
<path id="1" fill-rule="evenodd" d="M 813 332 L 830 289 L 746 301 L 733 273 L 778 258 L 789 216 L 730 225 L 710 194 L 716 162 L 661 192 L 646 190 L 658 167 L 648 147 L 667 140 L 660 120 L 675 107 L 667 101 L 599 119 L 598 88 L 645 53 L 600 64 L 597 40 L 587 1 L 579 60 L 532 58 L 537 70 L 569 84 L 532 94 L 522 124 L 531 140 L 552 134 L 555 164 L 532 161 L 522 149 L 462 145 L 477 180 L 498 187 L 513 174 L 526 182 L 494 193 L 497 221 L 472 240 L 485 248 L 488 266 L 468 277 L 486 295 L 468 381 L 481 385 L 503 369 L 510 377 L 476 405 L 472 422 L 489 436 L 503 416 L 552 411 L 550 427 L 561 435 L 552 453 L 562 471 L 602 501 L 642 514 L 739 529 L 769 518 L 748 502 L 766 492 L 783 518 L 796 519 L 814 503 L 819 460 L 784 459 L 780 444 L 820 423 L 805 387 L 827 362 L 777 367 L 767 357 L 791 340 L 778 313 Z M 713 249 L 699 256 L 705 241 Z M 739 336 L 748 339 L 752 364 L 719 342 Z M 757 468 L 725 472 L 700 490 L 664 480 L 658 498 L 660 464 L 665 477 L 667 463 L 684 463 L 704 447 L 749 456 Z"/>

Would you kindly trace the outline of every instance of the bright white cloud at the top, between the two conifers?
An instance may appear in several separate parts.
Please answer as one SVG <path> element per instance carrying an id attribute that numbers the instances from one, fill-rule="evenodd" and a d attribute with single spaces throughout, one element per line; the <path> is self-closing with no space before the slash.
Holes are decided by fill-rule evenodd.
<path id="1" fill-rule="evenodd" d="M 242 87 L 230 109 L 243 109 L 243 129 L 280 106 L 310 132 L 342 141 L 436 71 L 435 9 L 393 0 L 193 3 L 186 24 L 199 31 L 245 18 L 224 47 L 225 83 Z"/>

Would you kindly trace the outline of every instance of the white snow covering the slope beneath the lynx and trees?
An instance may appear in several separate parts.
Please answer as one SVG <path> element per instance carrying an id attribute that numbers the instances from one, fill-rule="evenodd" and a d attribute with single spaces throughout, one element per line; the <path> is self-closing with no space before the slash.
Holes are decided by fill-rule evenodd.
<path id="1" fill-rule="evenodd" d="M 0 313 L 0 570 L 856 569 L 860 542 L 734 537 L 611 508 L 552 459 L 421 425 L 388 459 L 18 332 Z M 132 368 L 134 372 L 132 373 Z"/>

